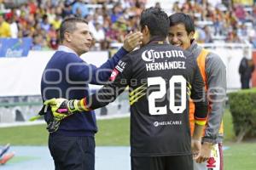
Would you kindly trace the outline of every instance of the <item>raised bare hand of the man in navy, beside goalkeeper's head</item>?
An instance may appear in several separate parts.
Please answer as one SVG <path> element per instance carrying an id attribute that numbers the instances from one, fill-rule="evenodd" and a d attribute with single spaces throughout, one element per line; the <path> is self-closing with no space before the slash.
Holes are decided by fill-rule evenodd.
<path id="1" fill-rule="evenodd" d="M 143 33 L 140 31 L 137 31 L 135 33 L 130 32 L 128 35 L 125 36 L 125 41 L 123 48 L 125 48 L 126 51 L 131 52 L 134 48 L 138 47 L 143 40 Z"/>

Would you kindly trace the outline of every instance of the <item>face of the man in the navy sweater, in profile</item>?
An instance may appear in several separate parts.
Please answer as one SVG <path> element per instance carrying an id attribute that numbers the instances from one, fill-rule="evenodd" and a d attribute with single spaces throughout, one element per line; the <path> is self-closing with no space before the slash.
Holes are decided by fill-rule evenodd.
<path id="1" fill-rule="evenodd" d="M 87 24 L 78 22 L 75 25 L 74 31 L 65 32 L 65 45 L 81 55 L 89 51 L 92 37 Z"/>

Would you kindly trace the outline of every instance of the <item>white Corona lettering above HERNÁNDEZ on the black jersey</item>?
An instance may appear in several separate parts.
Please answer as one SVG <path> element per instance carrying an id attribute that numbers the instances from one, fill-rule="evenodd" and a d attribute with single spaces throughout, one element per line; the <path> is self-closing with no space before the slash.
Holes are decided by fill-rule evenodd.
<path id="1" fill-rule="evenodd" d="M 142 54 L 142 58 L 147 62 L 154 62 L 156 59 L 164 59 L 171 57 L 186 58 L 181 50 L 172 51 L 154 51 L 154 49 L 146 50 Z"/>

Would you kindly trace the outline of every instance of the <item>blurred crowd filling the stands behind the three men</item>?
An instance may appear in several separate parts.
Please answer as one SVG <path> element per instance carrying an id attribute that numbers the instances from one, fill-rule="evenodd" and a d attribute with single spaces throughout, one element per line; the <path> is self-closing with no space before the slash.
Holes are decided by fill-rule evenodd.
<path id="1" fill-rule="evenodd" d="M 107 49 L 123 42 L 129 31 L 139 29 L 139 15 L 147 0 L 0 0 L 0 37 L 32 37 L 34 50 L 56 49 L 61 20 L 70 16 L 88 21 L 93 49 Z M 155 3 L 160 7 L 160 3 Z M 167 13 L 183 12 L 195 19 L 198 42 L 251 42 L 256 48 L 256 5 L 208 3 L 207 0 L 173 3 Z"/>

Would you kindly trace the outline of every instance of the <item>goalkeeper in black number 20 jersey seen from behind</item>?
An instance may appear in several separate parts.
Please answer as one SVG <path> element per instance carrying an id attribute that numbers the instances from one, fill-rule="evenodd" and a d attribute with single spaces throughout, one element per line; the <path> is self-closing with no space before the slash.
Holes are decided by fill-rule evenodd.
<path id="1" fill-rule="evenodd" d="M 50 99 L 44 104 L 64 118 L 108 105 L 129 86 L 131 169 L 192 170 L 192 153 L 196 157 L 201 150 L 207 117 L 200 70 L 188 52 L 166 43 L 169 19 L 160 8 L 145 9 L 140 26 L 142 47 L 119 61 L 108 84 L 96 94 L 81 100 Z M 189 96 L 195 101 L 192 139 Z"/>

